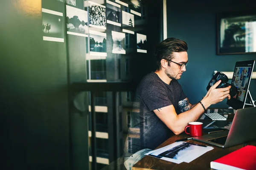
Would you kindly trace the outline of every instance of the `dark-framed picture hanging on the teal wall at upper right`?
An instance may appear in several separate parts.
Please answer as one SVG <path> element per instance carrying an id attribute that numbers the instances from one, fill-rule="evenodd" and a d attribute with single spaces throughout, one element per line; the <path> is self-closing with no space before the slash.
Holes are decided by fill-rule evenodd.
<path id="1" fill-rule="evenodd" d="M 256 53 L 256 11 L 217 14 L 217 55 Z"/>

